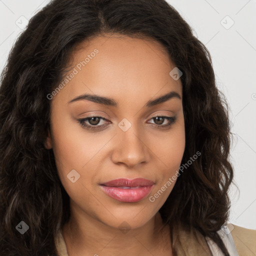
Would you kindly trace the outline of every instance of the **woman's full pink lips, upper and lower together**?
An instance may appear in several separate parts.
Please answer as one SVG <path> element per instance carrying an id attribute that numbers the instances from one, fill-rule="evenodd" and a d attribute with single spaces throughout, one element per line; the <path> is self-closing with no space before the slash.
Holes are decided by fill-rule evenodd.
<path id="1" fill-rule="evenodd" d="M 154 185 L 152 180 L 144 178 L 118 178 L 102 183 L 100 187 L 110 197 L 122 202 L 136 202 L 150 193 Z"/>

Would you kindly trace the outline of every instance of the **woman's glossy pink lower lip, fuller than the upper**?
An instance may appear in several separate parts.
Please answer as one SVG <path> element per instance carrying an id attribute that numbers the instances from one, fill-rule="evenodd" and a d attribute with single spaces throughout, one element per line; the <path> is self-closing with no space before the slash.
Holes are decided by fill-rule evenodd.
<path id="1" fill-rule="evenodd" d="M 121 202 L 137 202 L 147 196 L 153 188 L 151 186 L 141 186 L 138 188 L 119 188 L 101 185 L 103 191 L 110 197 Z"/>

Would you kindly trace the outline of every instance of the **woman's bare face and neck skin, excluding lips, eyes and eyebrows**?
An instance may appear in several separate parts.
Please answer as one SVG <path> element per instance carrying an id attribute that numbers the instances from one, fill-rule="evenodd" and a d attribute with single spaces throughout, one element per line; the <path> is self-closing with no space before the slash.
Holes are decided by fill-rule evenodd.
<path id="1" fill-rule="evenodd" d="M 70 197 L 71 217 L 63 228 L 69 256 L 76 255 L 171 255 L 169 228 L 162 226 L 158 212 L 175 181 L 154 202 L 154 195 L 175 174 L 185 148 L 182 84 L 169 72 L 175 67 L 163 46 L 152 39 L 107 34 L 93 37 L 75 48 L 71 68 L 90 54 L 99 52 L 51 99 L 51 126 L 45 142 L 52 148 L 60 180 Z M 71 69 L 70 69 L 71 70 Z M 170 91 L 173 97 L 151 107 L 144 106 Z M 111 97 L 118 106 L 71 99 L 84 94 Z M 82 127 L 77 118 L 96 130 Z M 167 128 L 167 119 L 176 116 Z M 131 127 L 118 123 L 126 118 Z M 125 124 L 127 125 L 127 124 Z M 80 178 L 72 183 L 67 174 L 75 169 Z M 154 187 L 138 202 L 121 202 L 103 192 L 100 183 L 111 179 L 142 177 Z M 126 221 L 130 228 L 122 232 Z"/>

